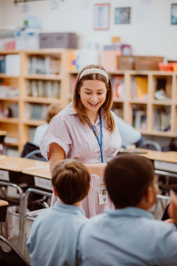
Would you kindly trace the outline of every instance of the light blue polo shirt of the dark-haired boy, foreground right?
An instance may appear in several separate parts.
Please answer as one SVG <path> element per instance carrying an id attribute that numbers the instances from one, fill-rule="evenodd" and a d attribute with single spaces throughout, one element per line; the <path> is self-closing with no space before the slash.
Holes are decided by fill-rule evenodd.
<path id="1" fill-rule="evenodd" d="M 82 266 L 176 266 L 177 230 L 143 209 L 109 210 L 82 227 L 78 250 Z"/>

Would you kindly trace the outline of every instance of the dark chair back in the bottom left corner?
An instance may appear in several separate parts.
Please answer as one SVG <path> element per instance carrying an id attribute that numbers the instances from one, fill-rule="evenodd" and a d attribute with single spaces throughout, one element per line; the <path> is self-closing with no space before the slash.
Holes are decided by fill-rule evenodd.
<path id="1" fill-rule="evenodd" d="M 0 265 L 30 266 L 21 253 L 2 235 L 0 235 L 0 241 Z M 5 250 L 3 246 L 8 246 L 8 250 Z"/>

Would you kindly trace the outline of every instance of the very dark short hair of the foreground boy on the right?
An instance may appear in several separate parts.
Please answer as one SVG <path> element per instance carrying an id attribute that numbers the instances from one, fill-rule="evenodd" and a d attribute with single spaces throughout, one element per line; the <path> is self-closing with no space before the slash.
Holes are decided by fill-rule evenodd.
<path id="1" fill-rule="evenodd" d="M 154 179 L 152 161 L 126 154 L 111 160 L 105 170 L 105 184 L 116 209 L 136 207 Z"/>

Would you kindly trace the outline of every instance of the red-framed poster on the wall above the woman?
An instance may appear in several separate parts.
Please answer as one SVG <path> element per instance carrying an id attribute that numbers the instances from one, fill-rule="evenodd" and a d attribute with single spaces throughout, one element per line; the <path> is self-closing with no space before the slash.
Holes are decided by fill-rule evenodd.
<path id="1" fill-rule="evenodd" d="M 110 4 L 96 4 L 94 6 L 94 30 L 109 29 Z"/>

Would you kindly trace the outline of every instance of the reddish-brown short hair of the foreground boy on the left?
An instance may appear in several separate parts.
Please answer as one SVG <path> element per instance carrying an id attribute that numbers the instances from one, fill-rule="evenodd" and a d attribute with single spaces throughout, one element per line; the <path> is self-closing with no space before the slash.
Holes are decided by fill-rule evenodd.
<path id="1" fill-rule="evenodd" d="M 87 196 L 90 174 L 80 161 L 66 159 L 55 165 L 52 185 L 62 202 L 72 205 Z"/>

